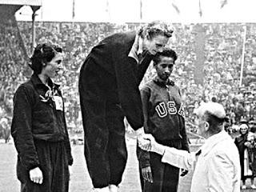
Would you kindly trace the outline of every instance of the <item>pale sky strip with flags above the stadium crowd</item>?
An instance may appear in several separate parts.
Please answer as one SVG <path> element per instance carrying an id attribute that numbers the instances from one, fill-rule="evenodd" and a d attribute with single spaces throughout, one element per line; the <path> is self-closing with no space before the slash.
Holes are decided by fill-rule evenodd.
<path id="1" fill-rule="evenodd" d="M 74 18 L 73 13 L 74 1 Z M 142 1 L 142 19 L 140 18 Z M 221 9 L 222 2 L 227 2 Z M 42 0 L 36 21 L 58 22 L 256 22 L 255 0 Z M 178 7 L 178 11 L 174 6 Z M 18 20 L 31 21 L 32 10 L 23 6 Z"/>

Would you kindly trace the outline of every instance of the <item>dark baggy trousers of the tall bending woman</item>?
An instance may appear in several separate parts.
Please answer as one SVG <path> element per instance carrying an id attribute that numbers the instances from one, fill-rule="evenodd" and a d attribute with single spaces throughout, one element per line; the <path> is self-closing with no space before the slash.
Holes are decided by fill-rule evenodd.
<path id="1" fill-rule="evenodd" d="M 124 115 L 118 104 L 81 99 L 85 157 L 95 188 L 118 186 L 126 167 Z"/>

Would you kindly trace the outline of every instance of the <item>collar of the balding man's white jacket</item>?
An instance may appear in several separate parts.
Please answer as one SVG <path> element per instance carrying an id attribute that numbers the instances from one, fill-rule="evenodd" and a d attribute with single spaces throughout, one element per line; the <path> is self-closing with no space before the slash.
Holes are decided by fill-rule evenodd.
<path id="1" fill-rule="evenodd" d="M 202 155 L 205 156 L 216 146 L 219 142 L 222 142 L 224 140 L 231 139 L 230 135 L 226 133 L 225 130 L 222 130 L 218 134 L 214 134 L 213 136 L 210 136 L 210 138 L 206 139 L 205 144 L 202 146 Z"/>

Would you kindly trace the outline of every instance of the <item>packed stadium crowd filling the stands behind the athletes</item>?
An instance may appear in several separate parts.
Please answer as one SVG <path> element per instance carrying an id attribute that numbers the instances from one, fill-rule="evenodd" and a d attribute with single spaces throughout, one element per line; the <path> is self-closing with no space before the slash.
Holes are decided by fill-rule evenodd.
<path id="1" fill-rule="evenodd" d="M 118 31 L 135 30 L 139 23 L 112 24 L 90 22 L 36 22 L 36 42 L 51 41 L 63 47 L 64 75 L 63 96 L 66 102 L 67 124 L 74 131 L 82 131 L 82 118 L 78 99 L 78 73 L 82 62 L 92 46 L 102 38 Z M 31 22 L 18 22 L 18 28 L 10 21 L 0 25 L 0 118 L 10 123 L 12 98 L 21 82 L 30 76 L 21 48 L 31 53 Z M 246 121 L 256 118 L 256 25 L 234 23 L 202 24 L 206 31 L 203 69 L 196 63 L 195 35 L 197 25 L 174 24 L 174 37 L 170 47 L 178 53 L 178 61 L 172 78 L 182 91 L 186 107 L 186 121 L 190 131 L 195 132 L 194 110 L 200 103 L 221 102 L 230 116 L 230 126 L 237 125 L 241 118 Z M 21 34 L 19 36 L 18 34 Z M 246 33 L 243 85 L 239 86 L 242 61 L 243 37 Z M 22 39 L 20 39 L 22 37 Z M 196 83 L 195 70 L 203 70 L 203 83 Z M 150 66 L 142 83 L 155 74 Z M 0 120 L 1 120 L 0 119 Z M 6 120 L 5 120 L 6 121 Z M 0 136 L 1 137 L 1 136 Z"/>

